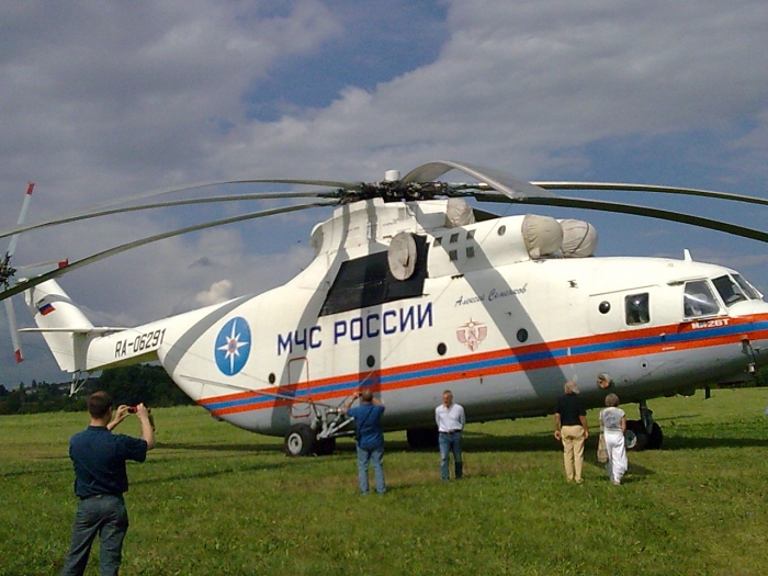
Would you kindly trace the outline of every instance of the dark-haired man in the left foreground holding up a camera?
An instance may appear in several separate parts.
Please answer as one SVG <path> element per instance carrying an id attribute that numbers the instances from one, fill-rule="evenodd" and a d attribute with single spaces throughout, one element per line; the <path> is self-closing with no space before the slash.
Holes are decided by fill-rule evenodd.
<path id="1" fill-rule="evenodd" d="M 155 448 L 155 432 L 144 404 L 136 406 L 142 438 L 112 433 L 112 429 L 128 416 L 129 407 L 120 406 L 113 411 L 112 396 L 106 392 L 89 396 L 88 413 L 90 426 L 69 440 L 75 495 L 80 501 L 61 576 L 82 575 L 97 534 L 101 576 L 117 574 L 123 539 L 128 530 L 128 512 L 123 500 L 123 493 L 128 489 L 125 462 L 144 462 L 147 450 Z"/>

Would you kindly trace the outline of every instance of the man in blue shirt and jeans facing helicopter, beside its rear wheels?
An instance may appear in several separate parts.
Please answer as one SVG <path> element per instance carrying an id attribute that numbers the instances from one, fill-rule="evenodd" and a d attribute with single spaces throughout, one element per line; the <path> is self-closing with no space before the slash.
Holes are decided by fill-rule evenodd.
<path id="1" fill-rule="evenodd" d="M 360 398 L 360 406 L 351 408 L 352 403 Z M 376 492 L 384 494 L 384 430 L 382 429 L 382 415 L 384 405 L 379 398 L 373 397 L 371 388 L 355 392 L 343 413 L 354 418 L 354 427 L 358 431 L 358 481 L 360 493 L 368 494 L 368 465 L 373 463 L 373 474 L 376 478 Z"/>

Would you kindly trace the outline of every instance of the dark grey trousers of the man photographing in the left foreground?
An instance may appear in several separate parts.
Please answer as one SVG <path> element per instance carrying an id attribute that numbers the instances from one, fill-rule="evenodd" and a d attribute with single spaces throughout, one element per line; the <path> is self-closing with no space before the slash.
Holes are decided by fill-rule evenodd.
<path id="1" fill-rule="evenodd" d="M 72 544 L 61 576 L 80 576 L 99 534 L 101 576 L 115 576 L 123 557 L 123 539 L 128 531 L 128 511 L 122 496 L 99 495 L 80 500 L 72 526 Z"/>

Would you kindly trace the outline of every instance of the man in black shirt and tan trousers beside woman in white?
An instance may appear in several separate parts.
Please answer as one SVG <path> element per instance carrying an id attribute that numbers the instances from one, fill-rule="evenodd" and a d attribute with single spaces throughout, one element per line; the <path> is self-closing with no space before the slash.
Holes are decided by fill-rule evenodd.
<path id="1" fill-rule="evenodd" d="M 555 408 L 555 438 L 563 442 L 563 462 L 568 482 L 581 483 L 584 464 L 584 441 L 589 438 L 587 410 L 578 388 L 573 382 L 566 382 L 565 394 L 557 398 Z"/>

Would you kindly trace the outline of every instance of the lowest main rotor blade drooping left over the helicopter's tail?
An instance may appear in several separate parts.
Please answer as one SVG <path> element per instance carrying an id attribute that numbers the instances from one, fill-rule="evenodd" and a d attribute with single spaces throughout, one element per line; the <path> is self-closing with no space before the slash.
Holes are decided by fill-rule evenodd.
<path id="1" fill-rule="evenodd" d="M 58 278 L 60 275 L 66 274 L 67 272 L 71 272 L 74 270 L 77 270 L 78 268 L 86 267 L 88 264 L 92 264 L 94 262 L 98 262 L 99 260 L 103 260 L 104 258 L 109 258 L 110 256 L 115 256 L 121 252 L 125 252 L 127 250 L 131 250 L 132 248 L 138 248 L 139 246 L 145 246 L 147 244 L 156 242 L 159 240 L 165 240 L 166 238 L 172 238 L 173 236 L 181 236 L 182 234 L 188 234 L 191 231 L 196 231 L 196 230 L 204 230 L 206 228 L 213 228 L 215 226 L 224 226 L 225 224 L 233 224 L 236 222 L 242 222 L 247 219 L 253 219 L 253 218 L 261 218 L 263 216 L 272 216 L 275 214 L 285 214 L 289 212 L 297 212 L 300 210 L 306 210 L 306 208 L 314 208 L 314 207 L 320 207 L 320 206 L 337 206 L 339 203 L 338 202 L 314 202 L 312 204 L 300 204 L 296 206 L 284 206 L 280 208 L 272 208 L 272 210 L 266 210 L 261 212 L 251 212 L 249 214 L 241 214 L 239 216 L 231 216 L 229 218 L 222 218 L 218 221 L 213 221 L 213 222 L 206 222 L 204 224 L 195 224 L 194 226 L 187 226 L 184 228 L 179 228 L 177 230 L 171 230 L 162 234 L 157 234 L 155 236 L 149 236 L 147 238 L 142 238 L 139 240 L 134 240 L 132 242 L 123 244 L 121 246 L 116 246 L 114 248 L 110 248 L 109 250 L 104 250 L 103 252 L 98 252 L 95 255 L 89 256 L 88 258 L 83 258 L 82 260 L 78 260 L 76 262 L 70 263 L 69 266 L 58 268 L 56 270 L 52 270 L 50 272 L 47 272 L 43 275 L 31 278 L 29 280 L 25 280 L 24 282 L 20 282 L 13 287 L 10 287 L 3 292 L 0 292 L 0 301 L 5 300 L 10 296 L 13 296 L 15 294 L 19 294 L 20 292 L 24 292 L 27 289 L 31 289 L 33 286 L 36 286 L 37 284 L 42 284 L 43 282 L 47 282 L 48 280 L 53 280 L 55 278 Z"/>

